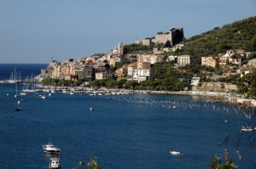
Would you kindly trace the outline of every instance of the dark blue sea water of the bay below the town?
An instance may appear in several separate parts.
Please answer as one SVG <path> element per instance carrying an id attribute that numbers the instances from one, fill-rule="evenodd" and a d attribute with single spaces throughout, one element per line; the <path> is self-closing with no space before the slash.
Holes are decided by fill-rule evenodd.
<path id="1" fill-rule="evenodd" d="M 14 68 L 26 77 L 47 65 L 0 66 L 0 78 L 9 79 Z M 21 88 L 18 84 L 19 92 Z M 200 96 L 52 93 L 38 99 L 38 94 L 20 96 L 23 103 L 18 105 L 15 84 L 0 84 L 2 169 L 48 168 L 51 155 L 42 149 L 48 142 L 61 148 L 62 169 L 88 162 L 90 156 L 102 169 L 206 169 L 213 155 L 225 161 L 225 149 L 239 168 L 256 168 L 256 132 L 240 132 L 241 126 L 255 126 L 255 110 L 207 103 L 212 98 Z M 226 134 L 229 138 L 218 145 Z M 183 156 L 173 156 L 171 150 Z"/>

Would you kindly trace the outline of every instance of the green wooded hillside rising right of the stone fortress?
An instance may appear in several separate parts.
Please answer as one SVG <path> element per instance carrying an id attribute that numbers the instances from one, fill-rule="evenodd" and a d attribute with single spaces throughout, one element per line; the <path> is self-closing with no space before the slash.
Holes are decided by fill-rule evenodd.
<path id="1" fill-rule="evenodd" d="M 256 16 L 236 21 L 223 27 L 215 27 L 201 35 L 186 40 L 188 48 L 177 53 L 195 57 L 224 53 L 227 49 L 256 51 Z"/>

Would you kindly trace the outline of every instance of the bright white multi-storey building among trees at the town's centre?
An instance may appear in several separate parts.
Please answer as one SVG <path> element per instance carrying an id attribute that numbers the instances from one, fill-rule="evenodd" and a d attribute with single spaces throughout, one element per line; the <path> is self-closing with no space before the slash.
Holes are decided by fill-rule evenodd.
<path id="1" fill-rule="evenodd" d="M 151 69 L 135 69 L 133 71 L 133 80 L 136 82 L 151 80 L 151 78 L 152 78 Z"/>

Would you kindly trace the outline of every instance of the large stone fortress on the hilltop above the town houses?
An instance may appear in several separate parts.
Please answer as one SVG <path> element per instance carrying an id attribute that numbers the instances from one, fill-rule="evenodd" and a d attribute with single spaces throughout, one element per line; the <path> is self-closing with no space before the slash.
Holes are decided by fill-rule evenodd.
<path id="1" fill-rule="evenodd" d="M 182 42 L 183 40 L 183 28 L 172 28 L 170 31 L 166 33 L 158 32 L 155 37 L 151 38 L 144 38 L 144 39 L 137 39 L 135 43 L 142 44 L 145 46 L 149 46 L 152 43 L 163 43 L 170 42 L 172 47 L 175 46 L 177 43 Z"/>

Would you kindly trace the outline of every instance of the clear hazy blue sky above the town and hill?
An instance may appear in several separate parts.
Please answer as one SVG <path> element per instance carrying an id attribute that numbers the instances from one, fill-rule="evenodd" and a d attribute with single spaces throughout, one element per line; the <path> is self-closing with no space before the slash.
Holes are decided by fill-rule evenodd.
<path id="1" fill-rule="evenodd" d="M 255 0 L 0 0 L 0 63 L 49 63 L 183 27 L 186 38 L 256 15 Z"/>

